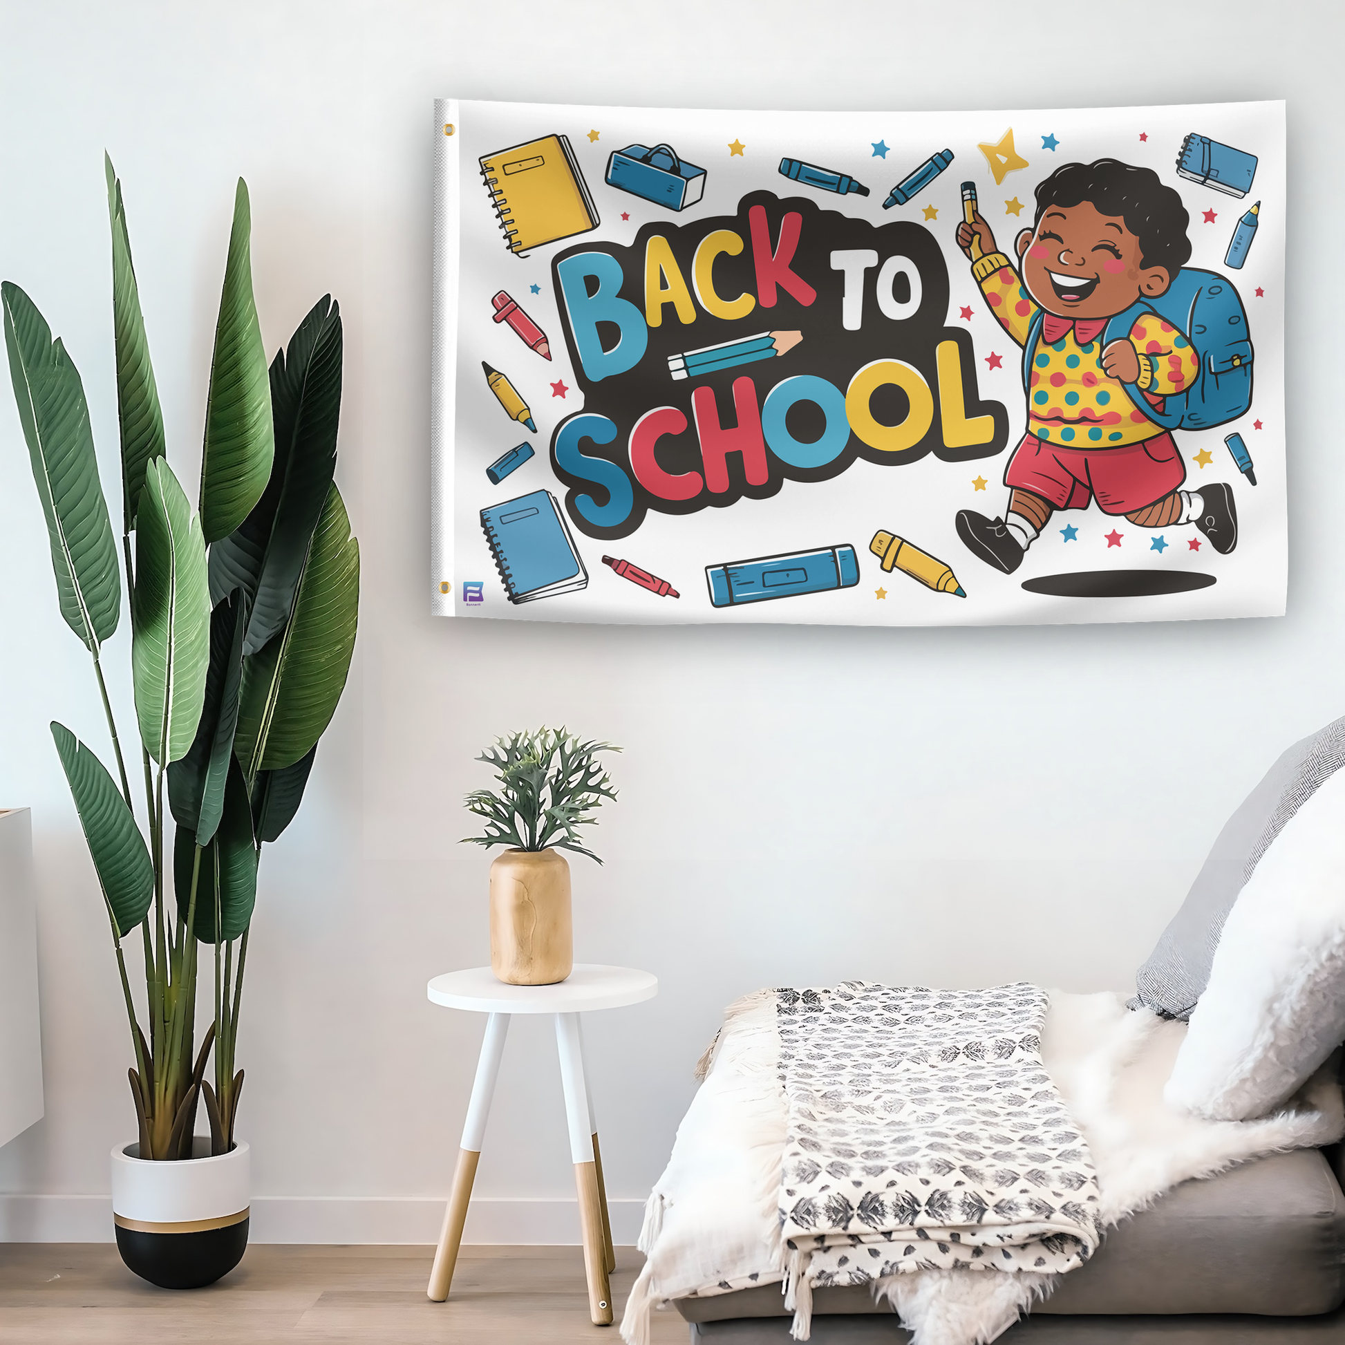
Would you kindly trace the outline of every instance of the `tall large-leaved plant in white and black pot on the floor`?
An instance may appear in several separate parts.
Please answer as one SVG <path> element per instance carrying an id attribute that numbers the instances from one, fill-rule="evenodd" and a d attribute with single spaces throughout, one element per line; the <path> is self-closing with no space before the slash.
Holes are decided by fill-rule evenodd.
<path id="1" fill-rule="evenodd" d="M 239 179 L 194 511 L 165 456 L 110 160 L 106 176 L 120 560 L 79 373 L 17 285 L 0 285 L 0 305 L 61 612 L 91 655 L 116 768 L 113 776 L 91 748 L 52 724 L 102 889 L 134 1060 L 139 1138 L 112 1155 L 117 1245 L 139 1275 L 186 1289 L 227 1274 L 247 1241 L 249 1150 L 234 1134 L 243 1072 L 234 1052 L 257 866 L 264 843 L 295 816 L 346 685 L 359 547 L 332 480 L 336 304 L 320 300 L 268 370 Z M 139 769 L 124 751 L 102 672 L 121 616 L 122 570 Z M 139 818 L 133 779 L 143 781 Z M 214 963 L 214 1014 L 198 1045 L 202 944 Z M 141 975 L 137 995 L 132 981 Z M 210 1134 L 198 1137 L 202 1107 Z"/>

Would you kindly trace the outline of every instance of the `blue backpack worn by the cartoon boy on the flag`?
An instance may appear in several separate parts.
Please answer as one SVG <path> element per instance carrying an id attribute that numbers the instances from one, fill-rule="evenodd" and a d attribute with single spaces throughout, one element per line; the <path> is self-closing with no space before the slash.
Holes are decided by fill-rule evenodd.
<path id="1" fill-rule="evenodd" d="M 1169 393 L 1159 412 L 1134 383 L 1124 383 L 1130 399 L 1163 429 L 1212 429 L 1237 420 L 1252 404 L 1252 343 L 1247 312 L 1232 282 L 1212 270 L 1184 266 L 1158 299 L 1141 300 L 1107 321 L 1102 343 L 1130 335 L 1145 313 L 1157 313 L 1176 327 L 1200 358 L 1200 374 L 1184 393 Z M 1022 382 L 1032 381 L 1032 356 L 1041 336 L 1038 309 L 1022 350 Z"/>

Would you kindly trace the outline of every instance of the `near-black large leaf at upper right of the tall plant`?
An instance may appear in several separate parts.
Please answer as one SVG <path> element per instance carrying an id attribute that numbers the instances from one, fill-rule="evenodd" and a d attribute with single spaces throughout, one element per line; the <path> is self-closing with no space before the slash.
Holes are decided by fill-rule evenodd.
<path id="1" fill-rule="evenodd" d="M 340 308 L 325 295 L 270 366 L 276 460 L 257 507 L 210 549 L 210 590 L 253 599 L 245 654 L 278 633 L 336 468 L 342 390 Z"/>

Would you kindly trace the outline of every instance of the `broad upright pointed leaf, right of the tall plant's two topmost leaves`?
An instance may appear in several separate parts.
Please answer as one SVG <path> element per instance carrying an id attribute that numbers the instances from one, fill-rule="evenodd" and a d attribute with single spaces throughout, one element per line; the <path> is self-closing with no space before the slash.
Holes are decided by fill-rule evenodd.
<path id="1" fill-rule="evenodd" d="M 252 291 L 250 233 L 247 184 L 239 178 L 206 401 L 200 526 L 207 542 L 227 537 L 252 512 L 276 452 L 266 351 Z"/>

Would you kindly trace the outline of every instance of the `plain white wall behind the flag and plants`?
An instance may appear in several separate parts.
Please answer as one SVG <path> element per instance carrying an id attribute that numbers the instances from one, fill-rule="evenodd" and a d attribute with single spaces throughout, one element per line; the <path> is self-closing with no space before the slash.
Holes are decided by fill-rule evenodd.
<path id="1" fill-rule="evenodd" d="M 346 315 L 338 476 L 363 549 L 356 666 L 300 819 L 265 857 L 239 1060 L 257 1235 L 429 1239 L 482 1022 L 425 1002 L 487 960 L 456 846 L 475 751 L 568 722 L 625 746 L 574 863 L 582 960 L 648 967 L 594 1017 L 619 1235 L 667 1155 L 721 1006 L 847 976 L 1130 983 L 1228 811 L 1345 710 L 1338 51 L 1342 11 L 1248 0 L 1014 9 L 855 0 L 0 5 L 0 274 L 85 375 L 116 482 L 101 155 L 122 175 L 171 457 L 195 479 L 233 182 L 274 348 Z M 1030 629 L 648 629 L 426 613 L 436 94 L 780 108 L 1287 98 L 1291 578 L 1275 621 Z M 987 124 L 989 125 L 989 124 Z M 998 130 L 998 122 L 989 125 Z M 114 504 L 116 508 L 116 496 Z M 31 804 L 47 1115 L 0 1150 L 0 1237 L 108 1236 L 132 1137 L 93 872 L 47 733 L 105 742 L 56 616 L 0 397 L 0 804 Z M 125 631 L 109 651 L 132 726 Z M 732 802 L 734 822 L 722 816 Z M 554 1049 L 519 1022 L 469 1236 L 577 1240 Z M 36 1198 L 30 1198 L 36 1197 Z M 55 1198 L 65 1197 L 65 1198 Z M 512 1204 L 511 1204 L 512 1201 Z M 550 1201 L 551 1204 L 546 1204 Z M 624 1233 L 623 1233 L 624 1231 Z"/>

